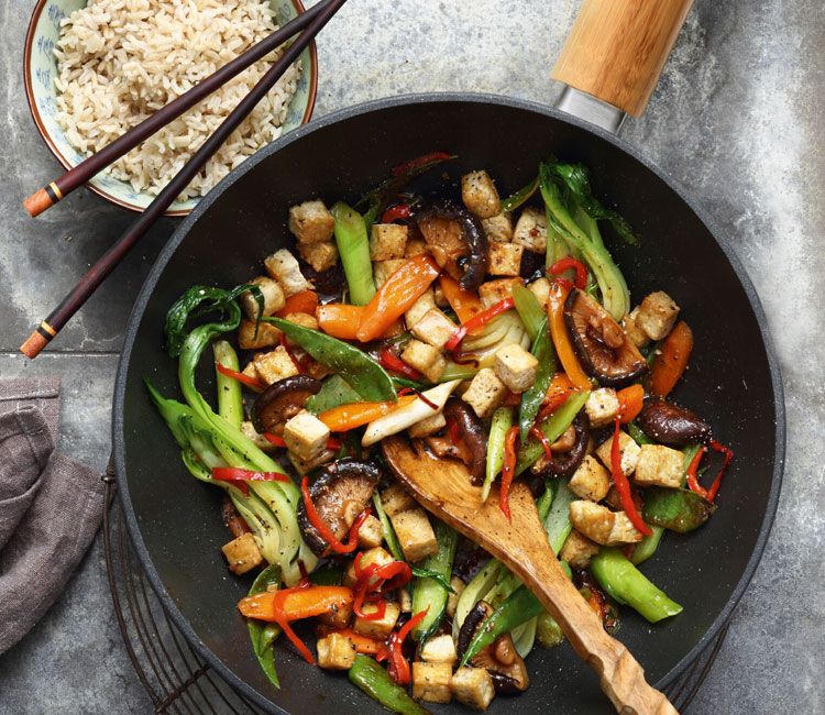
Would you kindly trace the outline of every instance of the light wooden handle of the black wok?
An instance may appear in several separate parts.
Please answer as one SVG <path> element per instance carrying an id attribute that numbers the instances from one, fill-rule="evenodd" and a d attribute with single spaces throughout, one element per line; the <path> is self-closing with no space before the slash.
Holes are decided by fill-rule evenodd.
<path id="1" fill-rule="evenodd" d="M 693 0 L 584 0 L 552 77 L 639 117 Z"/>

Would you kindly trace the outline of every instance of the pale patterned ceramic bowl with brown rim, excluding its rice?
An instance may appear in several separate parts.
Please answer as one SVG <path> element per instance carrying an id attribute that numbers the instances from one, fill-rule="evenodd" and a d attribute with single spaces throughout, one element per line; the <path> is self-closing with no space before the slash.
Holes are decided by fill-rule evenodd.
<path id="1" fill-rule="evenodd" d="M 29 108 L 43 141 L 66 169 L 79 164 L 85 155 L 69 144 L 57 123 L 57 89 L 54 81 L 57 76 L 57 61 L 53 51 L 61 34 L 61 22 L 86 3 L 86 0 L 38 0 L 25 40 L 24 85 Z M 270 0 L 270 3 L 279 26 L 304 11 L 300 0 Z M 282 134 L 308 122 L 315 107 L 318 86 L 318 56 L 315 43 L 301 54 L 301 61 L 304 72 L 289 103 Z M 44 176 L 43 184 L 51 178 L 53 177 Z M 116 179 L 105 172 L 95 176 L 87 186 L 105 199 L 133 211 L 142 211 L 154 198 L 154 195 L 147 191 L 135 191 L 128 182 Z M 35 188 L 32 187 L 32 190 Z M 186 201 L 175 201 L 166 213 L 186 216 L 199 199 L 200 197 L 195 197 Z"/>

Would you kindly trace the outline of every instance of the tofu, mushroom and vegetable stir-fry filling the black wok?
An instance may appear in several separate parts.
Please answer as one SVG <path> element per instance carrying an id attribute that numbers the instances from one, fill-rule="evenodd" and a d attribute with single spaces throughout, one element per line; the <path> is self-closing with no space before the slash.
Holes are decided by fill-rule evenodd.
<path id="1" fill-rule="evenodd" d="M 586 169 L 550 160 L 502 199 L 484 170 L 433 180 L 451 158 L 396 167 L 354 208 L 294 206 L 294 251 L 169 310 L 184 402 L 147 383 L 188 470 L 226 493 L 223 553 L 256 574 L 238 607 L 268 679 L 286 639 L 398 713 L 524 692 L 536 641 L 563 636 L 405 491 L 385 440 L 463 463 L 505 515 L 524 480 L 536 538 L 609 630 L 617 604 L 682 610 L 637 566 L 711 517 L 733 457 L 670 399 L 693 334 L 661 290 L 632 307 L 602 230 L 636 239 Z M 208 349 L 215 404 L 195 383 Z"/>

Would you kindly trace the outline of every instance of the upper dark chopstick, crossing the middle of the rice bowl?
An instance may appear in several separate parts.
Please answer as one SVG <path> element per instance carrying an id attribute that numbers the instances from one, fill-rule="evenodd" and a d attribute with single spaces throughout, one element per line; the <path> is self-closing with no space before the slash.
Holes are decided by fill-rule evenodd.
<path id="1" fill-rule="evenodd" d="M 321 0 L 318 4 L 312 6 L 295 20 L 275 30 L 261 42 L 252 45 L 246 52 L 227 63 L 220 69 L 217 69 L 206 79 L 199 81 L 189 91 L 173 99 L 168 105 L 130 129 L 111 144 L 85 158 L 77 166 L 58 176 L 54 182 L 46 184 L 46 186 L 23 201 L 25 210 L 32 217 L 43 213 L 43 211 L 67 197 L 78 186 L 86 184 L 95 174 L 105 169 L 109 164 L 117 162 L 127 152 L 148 139 L 157 130 L 195 107 L 195 105 L 211 95 L 219 87 L 226 85 L 234 76 L 279 47 L 286 40 L 298 34 L 330 3 L 331 0 Z"/>

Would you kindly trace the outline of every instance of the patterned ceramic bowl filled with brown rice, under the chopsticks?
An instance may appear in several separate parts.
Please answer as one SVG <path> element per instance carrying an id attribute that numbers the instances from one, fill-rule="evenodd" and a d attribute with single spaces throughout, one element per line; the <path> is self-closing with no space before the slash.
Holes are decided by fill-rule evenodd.
<path id="1" fill-rule="evenodd" d="M 38 0 L 25 43 L 29 107 L 68 169 L 304 11 L 300 0 Z M 273 53 L 88 183 L 142 211 L 252 89 Z M 230 170 L 309 121 L 315 43 L 169 207 L 185 216 Z"/>

